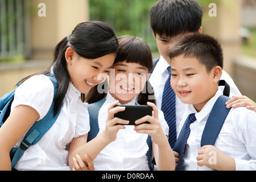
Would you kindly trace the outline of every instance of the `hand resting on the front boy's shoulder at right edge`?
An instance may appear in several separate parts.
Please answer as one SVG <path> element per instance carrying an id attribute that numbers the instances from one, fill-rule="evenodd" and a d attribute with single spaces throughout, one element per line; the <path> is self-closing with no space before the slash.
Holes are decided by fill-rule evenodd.
<path id="1" fill-rule="evenodd" d="M 246 96 L 233 96 L 230 100 L 226 101 L 226 107 L 246 107 L 256 112 L 256 103 Z"/>

